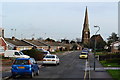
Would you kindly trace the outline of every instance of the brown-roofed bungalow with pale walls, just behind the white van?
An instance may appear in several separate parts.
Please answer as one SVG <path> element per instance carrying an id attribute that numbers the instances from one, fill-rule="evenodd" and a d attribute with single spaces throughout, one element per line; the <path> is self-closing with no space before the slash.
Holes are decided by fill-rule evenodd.
<path id="1" fill-rule="evenodd" d="M 12 38 L 4 38 L 6 43 L 8 44 L 8 49 L 9 50 L 25 50 L 25 49 L 31 49 L 33 46 L 22 41 L 19 39 L 16 39 L 15 37 Z"/>

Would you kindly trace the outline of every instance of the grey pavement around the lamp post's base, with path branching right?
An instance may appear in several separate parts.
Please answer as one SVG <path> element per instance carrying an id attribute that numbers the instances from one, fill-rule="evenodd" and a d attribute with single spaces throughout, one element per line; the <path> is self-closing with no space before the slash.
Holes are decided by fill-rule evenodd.
<path id="1" fill-rule="evenodd" d="M 94 58 L 93 55 L 88 59 L 89 61 L 89 78 L 90 80 L 113 80 L 110 74 L 106 71 L 107 69 L 120 69 L 116 67 L 103 67 L 101 63 L 95 59 L 95 70 L 94 70 Z"/>

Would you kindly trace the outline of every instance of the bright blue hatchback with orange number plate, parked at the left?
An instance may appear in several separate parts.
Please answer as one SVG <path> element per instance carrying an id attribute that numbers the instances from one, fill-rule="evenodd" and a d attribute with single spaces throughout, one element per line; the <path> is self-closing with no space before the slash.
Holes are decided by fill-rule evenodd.
<path id="1" fill-rule="evenodd" d="M 39 75 L 39 66 L 34 58 L 16 58 L 12 65 L 12 76 L 16 75 L 28 75 L 31 78 L 34 75 Z"/>

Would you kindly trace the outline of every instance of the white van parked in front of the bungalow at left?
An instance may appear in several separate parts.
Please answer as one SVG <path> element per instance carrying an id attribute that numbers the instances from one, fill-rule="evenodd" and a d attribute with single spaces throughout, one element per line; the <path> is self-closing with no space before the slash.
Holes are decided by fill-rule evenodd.
<path id="1" fill-rule="evenodd" d="M 22 52 L 19 52 L 17 50 L 6 50 L 4 57 L 30 58 L 30 56 L 24 55 Z"/>

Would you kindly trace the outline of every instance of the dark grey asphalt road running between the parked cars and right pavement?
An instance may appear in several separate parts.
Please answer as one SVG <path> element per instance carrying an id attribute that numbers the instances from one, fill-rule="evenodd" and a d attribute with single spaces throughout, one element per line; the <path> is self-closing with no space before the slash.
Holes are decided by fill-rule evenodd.
<path id="1" fill-rule="evenodd" d="M 72 52 L 66 55 L 58 55 L 59 65 L 45 65 L 40 68 L 40 75 L 34 79 L 84 79 L 86 78 L 85 68 L 86 59 L 79 59 L 80 52 Z M 17 77 L 18 79 L 27 79 L 27 77 Z"/>

